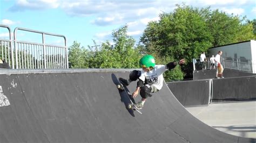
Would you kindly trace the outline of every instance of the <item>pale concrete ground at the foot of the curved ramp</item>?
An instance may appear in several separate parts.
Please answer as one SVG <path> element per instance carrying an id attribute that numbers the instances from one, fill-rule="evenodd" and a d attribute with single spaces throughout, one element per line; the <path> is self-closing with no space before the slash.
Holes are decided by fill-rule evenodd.
<path id="1" fill-rule="evenodd" d="M 256 101 L 212 103 L 186 109 L 194 117 L 219 131 L 256 138 Z"/>

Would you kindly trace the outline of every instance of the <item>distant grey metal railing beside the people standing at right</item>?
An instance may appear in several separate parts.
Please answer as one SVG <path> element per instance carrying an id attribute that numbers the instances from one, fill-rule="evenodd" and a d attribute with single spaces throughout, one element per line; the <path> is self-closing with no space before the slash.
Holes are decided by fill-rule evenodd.
<path id="1" fill-rule="evenodd" d="M 252 60 L 246 59 L 237 59 L 237 58 L 226 58 L 223 57 L 220 60 L 223 68 L 227 69 L 235 69 L 241 71 L 247 71 L 253 73 L 253 66 L 255 66 Z M 202 70 L 202 69 L 214 69 L 215 66 L 211 65 L 211 61 L 207 58 L 207 61 L 200 62 L 199 59 L 193 59 L 193 68 L 194 70 Z"/>

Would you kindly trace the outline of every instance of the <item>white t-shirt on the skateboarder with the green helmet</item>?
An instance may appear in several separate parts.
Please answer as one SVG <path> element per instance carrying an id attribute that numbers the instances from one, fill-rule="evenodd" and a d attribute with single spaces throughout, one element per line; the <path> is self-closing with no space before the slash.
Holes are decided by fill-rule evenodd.
<path id="1" fill-rule="evenodd" d="M 139 79 L 142 80 L 144 83 L 145 81 L 147 84 L 153 85 L 158 90 L 163 87 L 164 76 L 163 73 L 168 70 L 166 65 L 156 65 L 152 70 L 149 72 L 142 71 L 142 75 L 140 75 Z"/>

